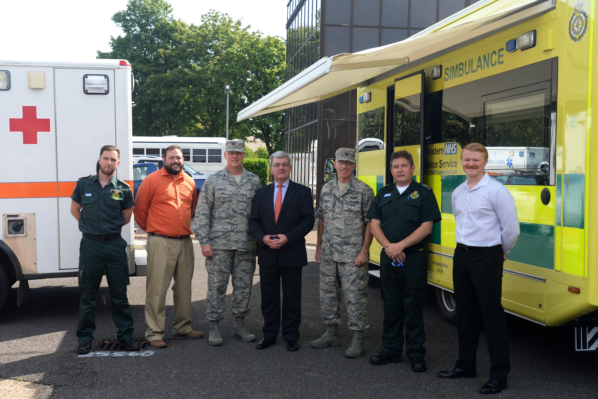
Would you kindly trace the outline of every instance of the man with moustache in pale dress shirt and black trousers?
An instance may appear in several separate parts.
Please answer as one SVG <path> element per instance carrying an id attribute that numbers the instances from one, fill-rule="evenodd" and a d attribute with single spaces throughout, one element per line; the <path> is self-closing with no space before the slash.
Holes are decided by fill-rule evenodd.
<path id="1" fill-rule="evenodd" d="M 480 339 L 477 303 L 480 303 L 490 352 L 490 379 L 483 394 L 496 394 L 507 386 L 509 344 L 502 308 L 502 264 L 519 236 L 515 200 L 509 190 L 484 172 L 486 147 L 468 144 L 461 152 L 467 180 L 452 196 L 457 247 L 453 257 L 454 301 L 457 310 L 459 360 L 441 378 L 475 377 Z"/>

